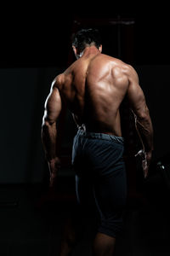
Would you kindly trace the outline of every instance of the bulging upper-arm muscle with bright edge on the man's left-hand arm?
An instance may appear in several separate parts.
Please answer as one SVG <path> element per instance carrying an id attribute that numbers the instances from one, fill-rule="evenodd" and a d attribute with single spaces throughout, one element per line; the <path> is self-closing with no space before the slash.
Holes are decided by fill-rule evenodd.
<path id="1" fill-rule="evenodd" d="M 61 97 L 57 87 L 52 85 L 50 93 L 46 99 L 44 106 L 44 121 L 53 124 L 58 118 L 62 108 Z"/>

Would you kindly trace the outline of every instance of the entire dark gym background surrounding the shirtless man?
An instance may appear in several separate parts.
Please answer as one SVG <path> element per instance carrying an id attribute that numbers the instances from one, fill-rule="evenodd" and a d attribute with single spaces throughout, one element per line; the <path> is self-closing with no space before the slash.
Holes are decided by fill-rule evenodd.
<path id="1" fill-rule="evenodd" d="M 76 127 L 66 112 L 60 137 L 62 168 L 57 193 L 51 193 L 41 125 L 43 105 L 54 77 L 74 61 L 71 33 L 79 23 L 99 27 L 103 52 L 121 58 L 139 73 L 154 126 L 153 162 L 150 176 L 144 180 L 133 157 L 138 141 L 132 119 L 124 112 L 123 128 L 130 145 L 128 196 L 125 232 L 117 243 L 116 255 L 169 255 L 168 11 L 162 1 L 1 3 L 1 255 L 56 255 L 61 226 L 74 212 L 70 156 Z M 156 165 L 160 160 L 164 169 Z M 89 254 L 93 225 L 86 224 L 87 234 L 74 255 Z"/>

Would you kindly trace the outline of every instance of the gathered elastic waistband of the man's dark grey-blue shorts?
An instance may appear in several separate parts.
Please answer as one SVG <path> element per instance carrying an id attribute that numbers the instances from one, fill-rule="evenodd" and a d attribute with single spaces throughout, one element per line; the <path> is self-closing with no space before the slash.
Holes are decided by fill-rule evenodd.
<path id="1" fill-rule="evenodd" d="M 124 144 L 123 137 L 117 137 L 114 135 L 106 134 L 106 133 L 99 133 L 99 132 L 92 132 L 92 131 L 84 131 L 82 129 L 78 129 L 77 131 L 78 136 L 88 137 L 88 138 L 96 138 L 101 140 L 112 141 L 115 143 Z"/>

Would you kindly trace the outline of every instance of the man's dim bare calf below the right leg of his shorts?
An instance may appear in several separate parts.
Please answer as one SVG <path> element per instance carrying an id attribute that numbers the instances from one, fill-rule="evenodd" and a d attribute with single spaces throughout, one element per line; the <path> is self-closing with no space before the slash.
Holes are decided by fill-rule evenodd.
<path id="1" fill-rule="evenodd" d="M 113 256 L 116 239 L 103 233 L 97 233 L 94 238 L 94 256 Z"/>

